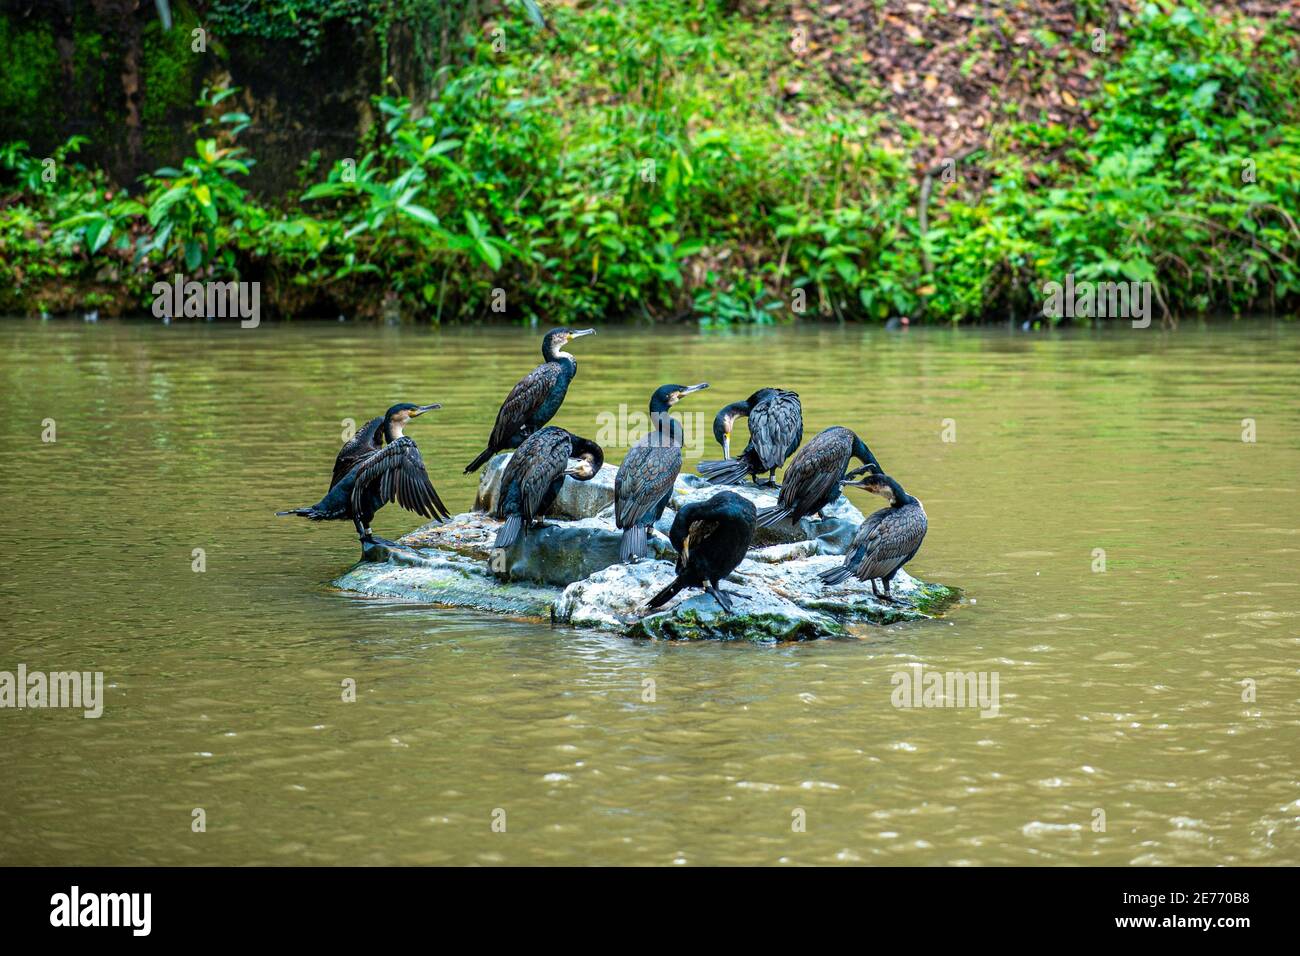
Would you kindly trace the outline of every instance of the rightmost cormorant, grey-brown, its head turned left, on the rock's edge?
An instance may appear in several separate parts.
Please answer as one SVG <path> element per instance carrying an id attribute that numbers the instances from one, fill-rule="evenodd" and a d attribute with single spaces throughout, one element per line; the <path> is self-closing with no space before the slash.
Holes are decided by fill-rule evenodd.
<path id="1" fill-rule="evenodd" d="M 858 481 L 846 481 L 845 488 L 863 488 L 879 494 L 889 502 L 872 512 L 858 525 L 853 544 L 844 555 L 844 564 L 823 571 L 824 584 L 838 584 L 852 575 L 858 580 L 871 581 L 871 593 L 876 591 L 876 579 L 885 587 L 884 600 L 889 597 L 889 581 L 898 568 L 911 561 L 926 538 L 926 509 L 888 475 L 867 475 Z"/>

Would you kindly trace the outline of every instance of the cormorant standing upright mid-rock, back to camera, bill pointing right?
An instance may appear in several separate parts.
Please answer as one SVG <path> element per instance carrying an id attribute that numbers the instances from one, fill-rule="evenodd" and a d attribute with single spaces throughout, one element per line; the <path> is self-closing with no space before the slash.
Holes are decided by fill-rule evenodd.
<path id="1" fill-rule="evenodd" d="M 614 523 L 623 529 L 619 561 L 645 557 L 650 525 L 659 520 L 681 471 L 681 423 L 668 408 L 699 385 L 660 385 L 650 397 L 650 432 L 628 450 L 614 477 Z"/>

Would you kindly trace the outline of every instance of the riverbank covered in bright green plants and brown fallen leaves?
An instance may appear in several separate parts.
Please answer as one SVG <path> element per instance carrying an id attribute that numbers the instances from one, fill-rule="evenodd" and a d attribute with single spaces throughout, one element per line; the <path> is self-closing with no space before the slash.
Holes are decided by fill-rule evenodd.
<path id="1" fill-rule="evenodd" d="M 1149 284 L 1157 321 L 1295 313 L 1294 13 L 971 7 L 493 14 L 287 195 L 247 187 L 244 88 L 139 182 L 10 144 L 0 312 L 150 312 L 181 273 L 259 282 L 266 317 L 1052 321 L 1072 281 Z"/>

